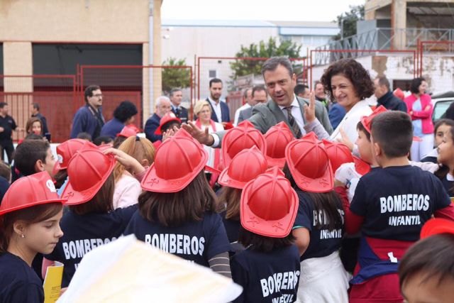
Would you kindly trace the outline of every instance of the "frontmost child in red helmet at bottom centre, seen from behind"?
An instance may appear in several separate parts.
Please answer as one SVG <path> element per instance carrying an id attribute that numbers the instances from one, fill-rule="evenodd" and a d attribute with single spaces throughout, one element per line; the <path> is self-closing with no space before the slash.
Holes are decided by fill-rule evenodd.
<path id="1" fill-rule="evenodd" d="M 295 302 L 300 276 L 292 226 L 297 193 L 274 167 L 245 185 L 239 242 L 246 247 L 231 261 L 233 281 L 243 293 L 233 302 Z"/>

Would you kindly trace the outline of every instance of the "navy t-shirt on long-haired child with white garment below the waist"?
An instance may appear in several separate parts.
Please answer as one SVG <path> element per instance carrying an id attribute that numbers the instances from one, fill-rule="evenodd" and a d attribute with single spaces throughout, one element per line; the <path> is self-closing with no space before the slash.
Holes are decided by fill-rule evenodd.
<path id="1" fill-rule="evenodd" d="M 309 229 L 311 236 L 308 248 L 304 252 L 304 255 L 301 255 L 301 261 L 309 258 L 326 257 L 336 250 L 339 250 L 339 248 L 341 248 L 343 228 L 336 228 L 330 231 L 328 228 L 317 227 L 319 222 L 328 224 L 326 214 L 323 211 L 317 213 L 314 202 L 308 194 L 301 192 L 301 190 L 297 190 L 297 193 L 299 197 L 299 206 L 294 228 L 307 228 Z M 344 212 L 341 199 L 338 199 L 338 204 L 336 206 L 339 214 L 341 214 L 343 218 Z"/>

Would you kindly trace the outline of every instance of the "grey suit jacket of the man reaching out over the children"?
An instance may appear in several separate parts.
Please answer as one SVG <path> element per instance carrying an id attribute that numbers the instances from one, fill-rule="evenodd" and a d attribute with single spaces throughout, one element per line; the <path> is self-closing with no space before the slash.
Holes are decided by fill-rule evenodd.
<path id="1" fill-rule="evenodd" d="M 301 109 L 301 114 L 304 117 L 303 105 L 307 104 L 309 106 L 309 100 L 297 97 L 297 101 L 299 103 L 299 108 Z M 331 123 L 329 122 L 326 107 L 323 106 L 320 101 L 315 102 L 315 116 L 320 121 L 323 128 L 325 128 L 326 132 L 331 135 L 331 133 L 333 133 L 333 127 L 331 127 Z M 287 126 L 289 126 L 292 131 L 292 126 L 289 125 L 287 117 L 284 116 L 282 110 L 279 109 L 279 106 L 272 100 L 267 101 L 265 104 L 256 104 L 253 107 L 253 116 L 250 117 L 249 121 L 253 123 L 255 128 L 257 128 L 261 133 L 266 133 L 268 129 L 281 121 L 287 123 Z M 216 132 L 221 141 L 225 133 L 225 131 Z"/>

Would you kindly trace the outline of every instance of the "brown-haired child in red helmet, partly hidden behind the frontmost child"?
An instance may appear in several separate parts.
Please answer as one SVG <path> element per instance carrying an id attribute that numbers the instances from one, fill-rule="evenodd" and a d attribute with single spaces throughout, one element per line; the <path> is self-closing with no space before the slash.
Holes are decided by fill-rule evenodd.
<path id="1" fill-rule="evenodd" d="M 241 150 L 219 176 L 219 184 L 223 185 L 219 195 L 219 203 L 225 205 L 221 212 L 226 227 L 228 241 L 236 245 L 240 230 L 240 197 L 243 187 L 250 180 L 267 170 L 267 160 L 262 152 L 253 146 Z"/>

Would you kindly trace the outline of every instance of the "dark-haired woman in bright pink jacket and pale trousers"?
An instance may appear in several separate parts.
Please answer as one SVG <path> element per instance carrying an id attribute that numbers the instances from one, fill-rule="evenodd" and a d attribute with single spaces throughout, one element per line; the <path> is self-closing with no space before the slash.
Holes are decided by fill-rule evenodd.
<path id="1" fill-rule="evenodd" d="M 433 148 L 433 105 L 426 89 L 426 79 L 415 78 L 411 81 L 411 94 L 404 99 L 413 122 L 413 134 L 421 138 L 421 141 L 413 141 L 411 145 L 410 155 L 414 161 L 421 160 Z"/>

